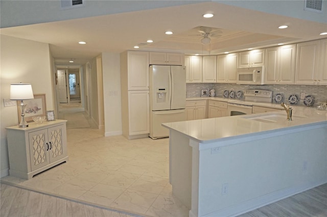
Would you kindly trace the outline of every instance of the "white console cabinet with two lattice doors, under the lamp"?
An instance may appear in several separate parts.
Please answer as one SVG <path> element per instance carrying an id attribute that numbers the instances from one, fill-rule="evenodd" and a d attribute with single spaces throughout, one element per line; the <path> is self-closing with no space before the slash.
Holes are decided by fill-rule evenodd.
<path id="1" fill-rule="evenodd" d="M 66 120 L 7 127 L 9 174 L 24 179 L 68 161 Z"/>

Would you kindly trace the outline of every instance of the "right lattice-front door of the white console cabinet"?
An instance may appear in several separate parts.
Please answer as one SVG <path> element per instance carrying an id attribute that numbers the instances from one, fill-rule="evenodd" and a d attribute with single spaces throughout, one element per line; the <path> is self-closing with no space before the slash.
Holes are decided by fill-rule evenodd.
<path id="1" fill-rule="evenodd" d="M 50 162 L 54 162 L 64 157 L 64 145 L 63 145 L 63 125 L 52 127 L 48 129 L 48 137 L 50 144 Z"/>

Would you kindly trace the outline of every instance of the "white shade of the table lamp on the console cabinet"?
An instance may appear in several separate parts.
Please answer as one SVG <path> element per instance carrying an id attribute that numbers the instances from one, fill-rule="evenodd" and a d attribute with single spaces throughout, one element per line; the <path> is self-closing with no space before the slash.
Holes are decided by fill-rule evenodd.
<path id="1" fill-rule="evenodd" d="M 10 85 L 10 100 L 30 100 L 34 99 L 31 84 L 11 84 Z"/>

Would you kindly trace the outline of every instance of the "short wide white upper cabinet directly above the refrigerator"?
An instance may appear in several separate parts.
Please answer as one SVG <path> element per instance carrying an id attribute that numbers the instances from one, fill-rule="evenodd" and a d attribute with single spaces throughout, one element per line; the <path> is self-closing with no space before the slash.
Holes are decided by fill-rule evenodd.
<path id="1" fill-rule="evenodd" d="M 150 52 L 150 65 L 184 65 L 184 54 Z"/>

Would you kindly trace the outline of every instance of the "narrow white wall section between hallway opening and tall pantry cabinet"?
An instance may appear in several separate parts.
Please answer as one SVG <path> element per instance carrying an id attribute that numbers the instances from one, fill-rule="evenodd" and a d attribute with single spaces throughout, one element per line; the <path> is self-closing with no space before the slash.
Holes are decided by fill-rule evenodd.
<path id="1" fill-rule="evenodd" d="M 102 53 L 105 136 L 122 134 L 120 54 Z"/>

